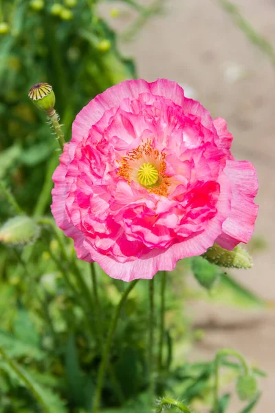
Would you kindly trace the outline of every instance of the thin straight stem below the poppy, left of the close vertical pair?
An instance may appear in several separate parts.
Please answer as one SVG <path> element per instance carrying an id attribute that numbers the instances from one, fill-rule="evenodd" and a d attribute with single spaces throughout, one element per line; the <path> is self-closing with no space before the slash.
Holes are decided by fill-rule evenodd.
<path id="1" fill-rule="evenodd" d="M 155 383 L 153 377 L 153 342 L 154 342 L 154 319 L 155 319 L 155 305 L 154 305 L 154 290 L 155 280 L 149 280 L 149 326 L 148 326 L 148 377 L 149 377 L 149 405 L 153 403 L 153 396 L 155 392 Z"/>

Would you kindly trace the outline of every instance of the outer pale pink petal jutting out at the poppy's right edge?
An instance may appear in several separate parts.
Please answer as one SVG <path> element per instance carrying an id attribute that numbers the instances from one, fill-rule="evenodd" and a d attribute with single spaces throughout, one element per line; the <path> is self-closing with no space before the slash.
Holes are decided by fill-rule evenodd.
<path id="1" fill-rule="evenodd" d="M 228 160 L 224 172 L 232 185 L 231 212 L 223 222 L 223 233 L 216 242 L 231 250 L 239 244 L 250 240 L 258 213 L 254 198 L 258 191 L 256 169 L 247 161 Z"/>

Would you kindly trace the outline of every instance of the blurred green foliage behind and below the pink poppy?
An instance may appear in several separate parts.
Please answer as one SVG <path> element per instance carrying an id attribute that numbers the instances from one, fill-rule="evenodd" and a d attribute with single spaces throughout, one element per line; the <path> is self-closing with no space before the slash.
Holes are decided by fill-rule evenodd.
<path id="1" fill-rule="evenodd" d="M 133 61 L 118 51 L 115 32 L 98 16 L 99 2 L 0 2 L 5 19 L 0 23 L 1 227 L 21 220 L 24 240 L 30 235 L 30 222 L 36 235 L 41 232 L 39 240 L 24 248 L 23 242 L 16 248 L 0 245 L 0 413 L 91 412 L 106 331 L 125 288 L 96 266 L 98 306 L 89 266 L 76 261 L 72 241 L 56 229 L 50 216 L 42 216 L 50 213 L 52 173 L 59 153 L 43 112 L 28 99 L 35 83 L 52 84 L 69 140 L 74 116 L 85 103 L 107 87 L 136 76 Z M 124 33 L 129 40 L 161 10 L 163 0 L 148 6 L 134 0 L 124 3 L 137 12 L 136 21 Z M 16 230 L 18 241 L 22 233 Z M 188 263 L 208 299 L 247 307 L 265 305 L 203 257 L 186 260 L 183 266 Z M 163 402 L 158 411 L 170 405 L 171 411 L 179 407 L 188 412 L 183 405 L 190 405 L 192 411 L 198 401 L 209 408 L 212 403 L 214 361 L 173 360 L 173 349 L 190 346 L 192 340 L 189 321 L 182 313 L 184 275 L 182 269 L 167 277 L 163 363 L 154 372 L 157 395 Z M 155 288 L 160 290 L 158 276 Z M 148 370 L 157 363 L 157 346 L 148 361 L 147 293 L 145 283 L 140 283 L 122 308 L 103 380 L 104 413 L 152 411 Z M 159 328 L 157 296 L 155 301 L 153 321 Z M 179 339 L 183 331 L 184 340 Z M 243 373 L 238 363 L 221 359 L 221 366 L 234 378 Z M 253 374 L 263 372 L 254 369 Z M 224 374 L 220 376 L 223 379 Z M 164 394 L 171 399 L 165 401 Z M 229 399 L 228 394 L 219 399 L 219 413 L 228 409 Z M 257 394 L 241 413 L 251 412 L 258 399 Z"/>

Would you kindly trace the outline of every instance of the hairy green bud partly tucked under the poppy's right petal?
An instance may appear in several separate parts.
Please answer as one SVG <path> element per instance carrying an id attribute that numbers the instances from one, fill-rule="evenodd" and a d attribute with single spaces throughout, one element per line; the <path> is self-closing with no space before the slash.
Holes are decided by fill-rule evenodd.
<path id="1" fill-rule="evenodd" d="M 239 245 L 235 246 L 232 251 L 228 251 L 218 244 L 214 244 L 202 256 L 212 264 L 227 268 L 248 269 L 253 266 L 252 257 Z"/>

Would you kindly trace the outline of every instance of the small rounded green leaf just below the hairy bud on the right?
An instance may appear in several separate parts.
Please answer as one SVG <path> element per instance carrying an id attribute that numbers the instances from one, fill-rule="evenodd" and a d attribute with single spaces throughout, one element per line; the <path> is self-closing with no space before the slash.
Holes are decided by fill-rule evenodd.
<path id="1" fill-rule="evenodd" d="M 191 268 L 197 282 L 208 290 L 214 286 L 221 273 L 218 266 L 210 264 L 203 257 L 194 257 L 191 261 Z"/>

